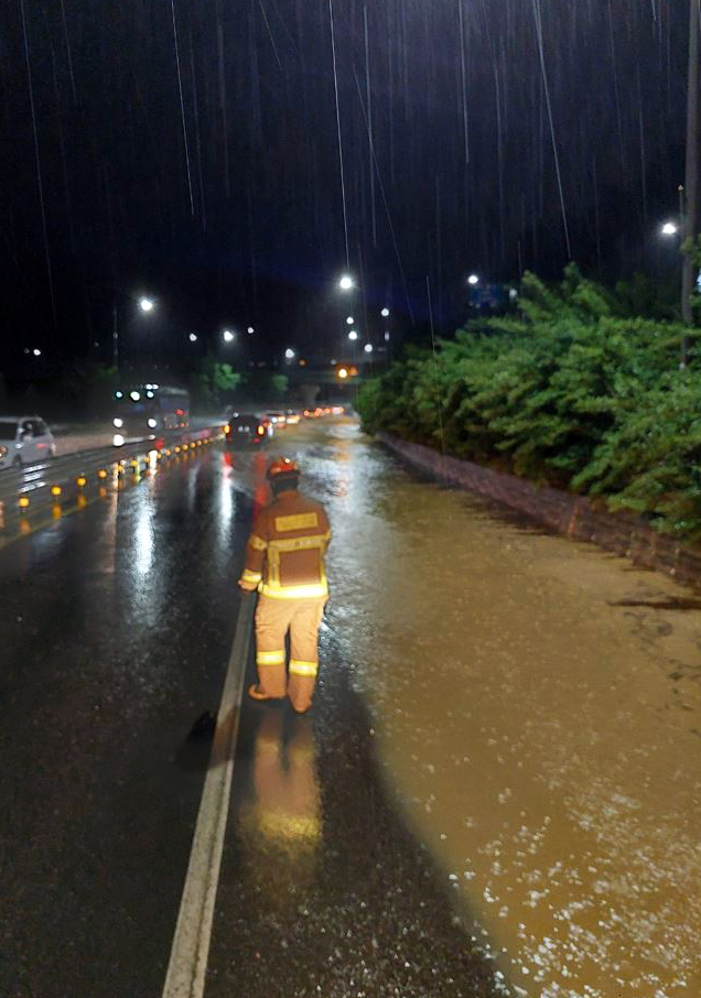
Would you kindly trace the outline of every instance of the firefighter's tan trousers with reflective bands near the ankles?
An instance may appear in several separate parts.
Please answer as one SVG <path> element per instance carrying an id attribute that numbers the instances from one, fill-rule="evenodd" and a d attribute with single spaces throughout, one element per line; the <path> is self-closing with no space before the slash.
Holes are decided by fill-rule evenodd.
<path id="1" fill-rule="evenodd" d="M 295 710 L 306 710 L 314 695 L 319 669 L 319 626 L 326 597 L 271 599 L 258 597 L 256 665 L 258 685 L 267 696 L 289 696 Z M 290 632 L 290 674 L 285 670 L 284 639 Z"/>

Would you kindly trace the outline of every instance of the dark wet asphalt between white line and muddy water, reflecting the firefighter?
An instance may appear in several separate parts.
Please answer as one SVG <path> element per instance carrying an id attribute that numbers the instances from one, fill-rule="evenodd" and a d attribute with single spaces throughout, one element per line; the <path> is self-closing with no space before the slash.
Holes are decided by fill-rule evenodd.
<path id="1" fill-rule="evenodd" d="M 333 650 L 310 715 L 245 704 L 206 998 L 506 994 L 373 736 Z"/>

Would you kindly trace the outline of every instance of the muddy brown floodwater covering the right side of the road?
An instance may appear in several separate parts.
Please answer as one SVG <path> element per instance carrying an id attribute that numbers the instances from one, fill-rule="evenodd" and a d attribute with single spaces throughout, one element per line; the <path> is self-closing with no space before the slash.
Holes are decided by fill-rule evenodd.
<path id="1" fill-rule="evenodd" d="M 701 615 L 418 480 L 352 423 L 278 449 L 328 505 L 327 626 L 388 784 L 516 994 L 701 991 Z"/>

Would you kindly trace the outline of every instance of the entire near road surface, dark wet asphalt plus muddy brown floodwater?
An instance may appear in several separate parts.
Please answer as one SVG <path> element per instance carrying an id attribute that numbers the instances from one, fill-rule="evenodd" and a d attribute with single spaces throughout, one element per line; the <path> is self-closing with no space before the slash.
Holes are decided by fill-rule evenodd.
<path id="1" fill-rule="evenodd" d="M 242 710 L 206 998 L 695 998 L 698 599 L 350 421 L 181 457 L 0 552 L 0 992 L 159 992 L 187 733 L 279 452 L 328 508 L 332 598 L 311 715 Z"/>

